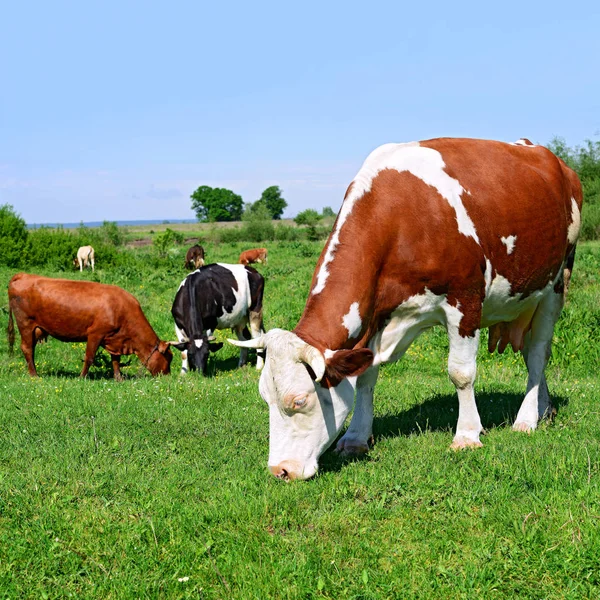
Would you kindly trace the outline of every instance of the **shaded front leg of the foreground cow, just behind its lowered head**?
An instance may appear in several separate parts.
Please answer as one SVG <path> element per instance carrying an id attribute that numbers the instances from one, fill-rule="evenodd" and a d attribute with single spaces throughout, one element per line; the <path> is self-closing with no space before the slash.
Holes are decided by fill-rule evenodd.
<path id="1" fill-rule="evenodd" d="M 336 452 L 358 456 L 369 451 L 373 438 L 373 392 L 379 367 L 371 367 L 356 380 L 356 402 L 348 431 L 337 443 Z"/>

